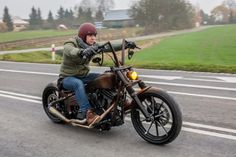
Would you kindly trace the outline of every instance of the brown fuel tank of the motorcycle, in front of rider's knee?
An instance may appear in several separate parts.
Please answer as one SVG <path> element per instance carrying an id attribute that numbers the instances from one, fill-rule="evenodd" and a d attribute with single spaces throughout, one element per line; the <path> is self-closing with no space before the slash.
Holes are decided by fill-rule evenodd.
<path id="1" fill-rule="evenodd" d="M 87 84 L 87 90 L 94 89 L 114 89 L 116 86 L 116 75 L 113 73 L 104 73 L 94 81 Z"/>

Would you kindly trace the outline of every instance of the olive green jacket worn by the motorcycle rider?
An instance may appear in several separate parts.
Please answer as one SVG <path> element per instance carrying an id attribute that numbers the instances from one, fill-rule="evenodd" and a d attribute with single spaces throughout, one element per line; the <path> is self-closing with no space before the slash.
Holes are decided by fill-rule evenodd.
<path id="1" fill-rule="evenodd" d="M 80 38 L 71 38 L 64 44 L 63 60 L 60 68 L 60 77 L 77 76 L 86 77 L 90 71 L 89 62 L 92 58 L 83 60 L 80 53 L 84 50 L 84 42 Z M 102 43 L 95 43 L 98 46 Z M 122 44 L 112 43 L 115 51 L 122 49 Z M 106 49 L 105 52 L 111 52 L 110 49 Z"/>

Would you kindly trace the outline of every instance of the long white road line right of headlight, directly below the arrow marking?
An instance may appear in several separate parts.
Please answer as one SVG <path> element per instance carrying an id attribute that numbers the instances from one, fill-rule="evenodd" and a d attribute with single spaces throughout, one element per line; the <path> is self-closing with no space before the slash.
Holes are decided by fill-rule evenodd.
<path id="1" fill-rule="evenodd" d="M 201 86 L 201 85 L 179 84 L 179 83 L 169 83 L 169 82 L 153 82 L 153 81 L 144 81 L 144 82 L 145 83 L 150 83 L 150 84 L 159 84 L 159 85 L 168 85 L 168 86 L 180 86 L 180 87 L 190 87 L 190 88 L 203 88 L 203 89 L 217 89 L 217 90 L 236 91 L 236 88 Z"/>

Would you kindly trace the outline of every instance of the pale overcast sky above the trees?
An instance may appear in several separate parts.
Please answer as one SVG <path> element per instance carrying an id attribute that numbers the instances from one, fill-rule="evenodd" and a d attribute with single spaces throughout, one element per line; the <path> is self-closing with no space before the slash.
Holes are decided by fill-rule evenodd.
<path id="1" fill-rule="evenodd" d="M 31 8 L 40 8 L 42 17 L 47 18 L 49 10 L 53 15 L 57 14 L 57 10 L 62 6 L 64 9 L 74 9 L 76 4 L 79 4 L 81 0 L 0 0 L 0 17 L 3 16 L 4 7 L 7 6 L 11 16 L 19 16 L 21 18 L 28 19 L 31 13 Z M 92 0 L 95 1 L 95 0 Z M 138 0 L 114 0 L 114 9 L 126 9 L 132 2 Z M 206 13 L 217 5 L 221 4 L 223 0 L 189 0 L 193 5 L 199 6 Z"/>

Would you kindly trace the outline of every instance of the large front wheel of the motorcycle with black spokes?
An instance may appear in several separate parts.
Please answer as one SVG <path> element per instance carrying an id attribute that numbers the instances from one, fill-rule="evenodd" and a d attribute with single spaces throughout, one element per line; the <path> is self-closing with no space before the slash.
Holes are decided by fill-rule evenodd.
<path id="1" fill-rule="evenodd" d="M 182 126 L 182 114 L 178 104 L 164 91 L 146 92 L 139 96 L 151 116 L 144 117 L 138 107 L 131 110 L 131 119 L 137 133 L 153 144 L 167 144 L 179 134 Z"/>

